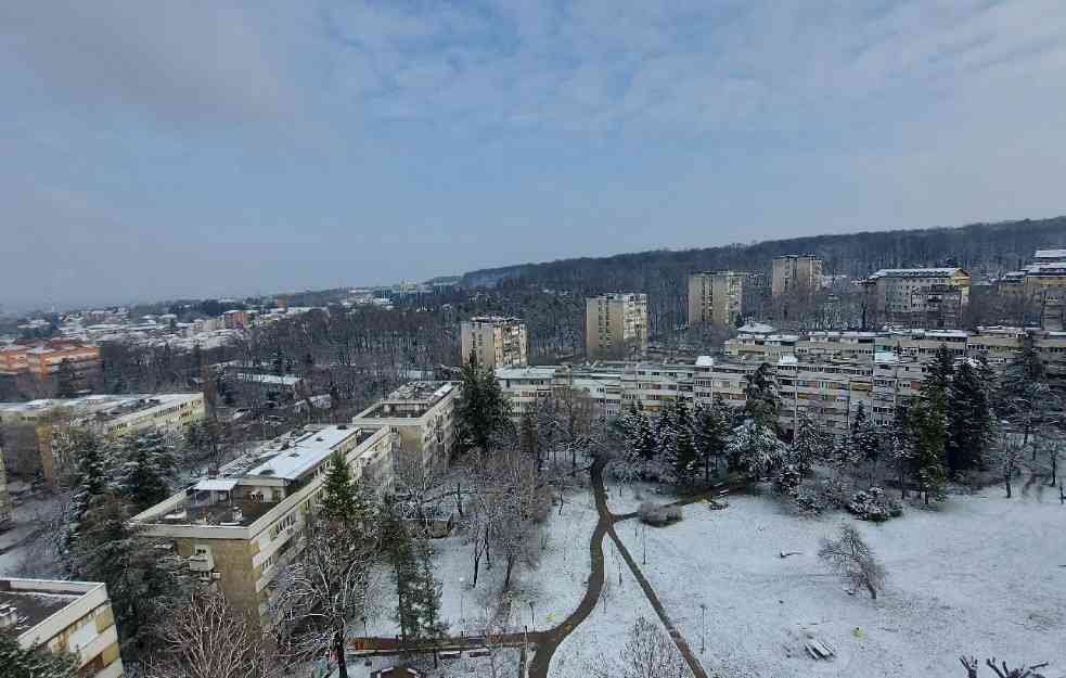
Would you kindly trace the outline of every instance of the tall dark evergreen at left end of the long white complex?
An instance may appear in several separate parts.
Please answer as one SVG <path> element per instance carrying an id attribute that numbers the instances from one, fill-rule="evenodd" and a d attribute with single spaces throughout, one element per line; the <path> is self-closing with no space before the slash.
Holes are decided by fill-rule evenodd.
<path id="1" fill-rule="evenodd" d="M 512 405 L 490 368 L 481 366 L 471 351 L 463 364 L 462 392 L 455 404 L 455 451 L 489 449 L 493 436 L 513 431 Z"/>

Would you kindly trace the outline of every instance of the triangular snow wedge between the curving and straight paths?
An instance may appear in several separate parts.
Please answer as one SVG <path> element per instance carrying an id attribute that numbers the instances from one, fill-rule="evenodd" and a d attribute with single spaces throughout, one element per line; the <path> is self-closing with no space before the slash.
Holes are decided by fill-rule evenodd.
<path id="1" fill-rule="evenodd" d="M 628 524 L 622 523 L 618 527 L 625 529 Z M 590 675 L 587 668 L 589 662 L 596 662 L 601 656 L 608 660 L 619 657 L 628 640 L 629 630 L 640 616 L 666 632 L 652 604 L 644 597 L 640 584 L 633 578 L 609 536 L 604 537 L 603 550 L 604 590 L 600 596 L 600 602 L 585 623 L 567 636 L 555 651 L 549 671 L 551 678 L 583 678 Z M 634 557 L 639 563 L 640 553 L 637 552 Z M 698 642 L 693 649 L 699 649 Z"/>

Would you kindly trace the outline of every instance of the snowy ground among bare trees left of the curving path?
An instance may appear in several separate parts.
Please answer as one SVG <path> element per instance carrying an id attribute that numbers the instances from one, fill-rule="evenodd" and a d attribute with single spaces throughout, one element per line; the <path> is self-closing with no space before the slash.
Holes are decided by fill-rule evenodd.
<path id="1" fill-rule="evenodd" d="M 522 630 L 530 628 L 551 628 L 570 614 L 581 597 L 585 596 L 591 564 L 589 561 L 589 539 L 596 524 L 595 503 L 591 492 L 578 489 L 566 495 L 562 506 L 553 506 L 545 522 L 548 540 L 540 551 L 540 563 L 536 570 L 519 567 L 512 575 L 511 593 L 513 604 L 509 627 Z M 473 563 L 471 549 L 465 535 L 459 534 L 447 539 L 434 539 L 434 575 L 441 585 L 441 616 L 450 625 L 450 634 L 464 630 L 479 632 L 487 610 L 496 607 L 503 588 L 504 564 L 499 559 L 488 570 L 481 561 L 477 587 L 471 588 Z M 540 541 L 535 545 L 540 548 Z M 368 621 L 371 636 L 396 636 L 399 626 L 391 618 L 396 609 L 396 590 L 388 572 L 382 576 L 382 605 L 386 611 L 376 619 Z M 532 603 L 532 609 L 530 609 Z M 361 632 L 361 628 L 354 631 Z"/>

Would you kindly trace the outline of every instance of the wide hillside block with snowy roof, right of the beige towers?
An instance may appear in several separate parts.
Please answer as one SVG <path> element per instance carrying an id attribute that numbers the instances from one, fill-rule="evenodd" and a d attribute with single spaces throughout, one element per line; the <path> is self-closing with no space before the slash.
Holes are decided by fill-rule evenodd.
<path id="1" fill-rule="evenodd" d="M 884 322 L 924 325 L 928 299 L 921 293 L 930 289 L 959 290 L 959 308 L 969 302 L 969 273 L 961 268 L 885 268 L 863 281 L 868 308 Z"/>

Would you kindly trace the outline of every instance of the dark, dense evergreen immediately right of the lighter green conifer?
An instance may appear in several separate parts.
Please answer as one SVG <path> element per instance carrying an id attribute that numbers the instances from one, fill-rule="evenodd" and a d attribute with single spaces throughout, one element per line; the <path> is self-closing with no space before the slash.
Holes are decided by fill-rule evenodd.
<path id="1" fill-rule="evenodd" d="M 992 436 L 993 418 L 978 372 L 969 361 L 960 364 L 951 380 L 947 415 L 948 470 L 959 473 L 978 468 Z"/>

